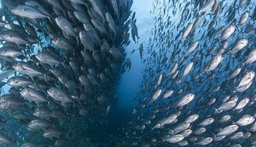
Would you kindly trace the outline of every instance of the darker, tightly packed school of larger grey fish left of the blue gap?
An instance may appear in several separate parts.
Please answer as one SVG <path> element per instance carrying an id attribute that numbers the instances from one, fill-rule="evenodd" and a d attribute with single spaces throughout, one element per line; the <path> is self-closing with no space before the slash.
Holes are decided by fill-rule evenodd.
<path id="1" fill-rule="evenodd" d="M 86 146 L 87 124 L 110 113 L 131 68 L 132 2 L 1 0 L 0 146 Z"/>

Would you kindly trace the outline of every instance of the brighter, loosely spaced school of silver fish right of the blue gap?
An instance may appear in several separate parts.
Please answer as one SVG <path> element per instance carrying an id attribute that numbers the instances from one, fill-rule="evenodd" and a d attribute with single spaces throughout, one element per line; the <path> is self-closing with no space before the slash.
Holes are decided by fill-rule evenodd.
<path id="1" fill-rule="evenodd" d="M 254 0 L 154 0 L 124 145 L 255 147 Z"/>

